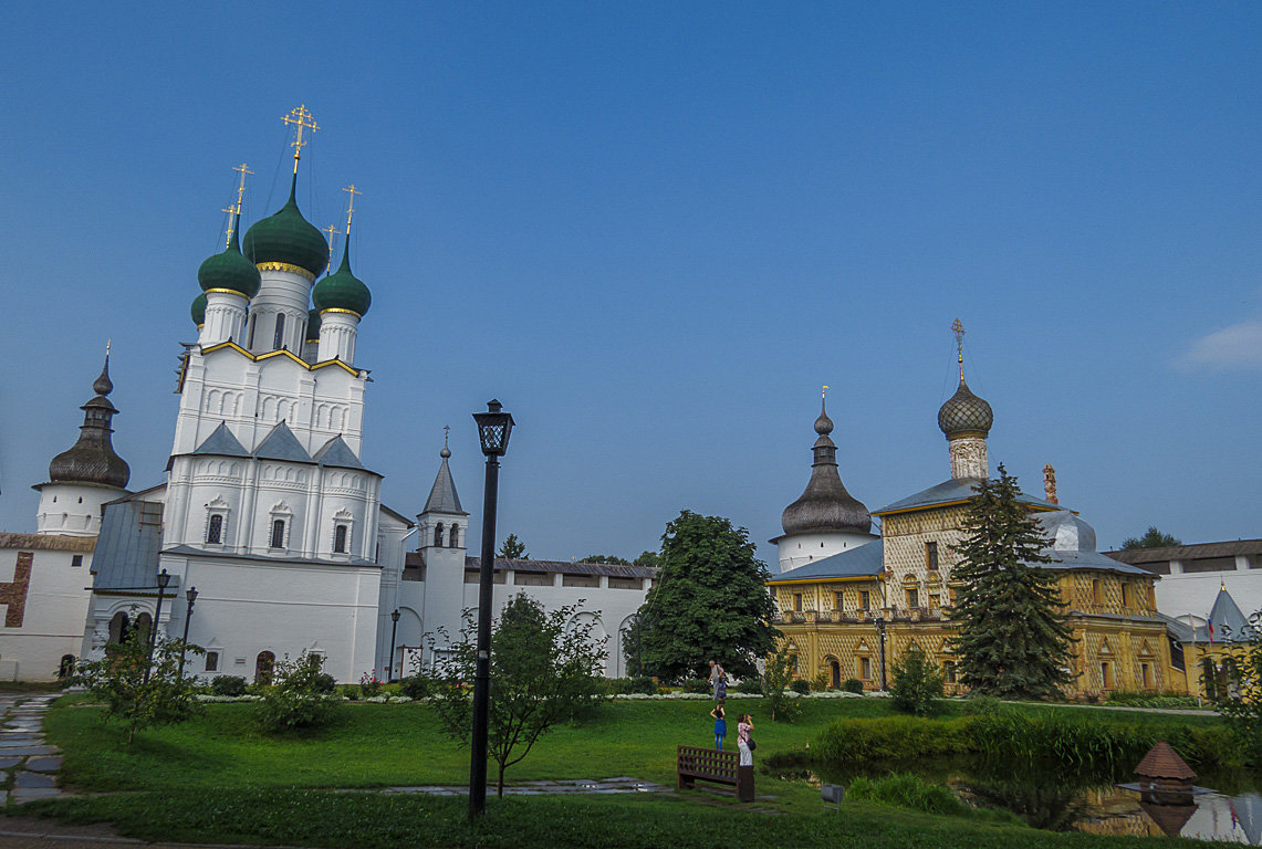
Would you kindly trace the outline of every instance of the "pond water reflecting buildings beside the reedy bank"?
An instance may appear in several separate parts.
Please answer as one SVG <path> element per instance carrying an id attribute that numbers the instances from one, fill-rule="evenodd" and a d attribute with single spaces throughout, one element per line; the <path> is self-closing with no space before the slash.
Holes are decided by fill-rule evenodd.
<path id="1" fill-rule="evenodd" d="M 1184 836 L 1262 845 L 1262 795 L 1257 780 L 1241 773 L 1210 773 L 1195 781 L 1196 792 L 1157 804 L 1142 797 L 1129 771 L 1113 775 L 1071 768 L 1026 768 L 987 764 L 976 758 L 885 761 L 838 768 L 780 758 L 772 772 L 813 786 L 849 786 L 858 776 L 881 778 L 910 773 L 946 785 L 976 807 L 1017 814 L 1037 829 L 1132 836 Z M 1129 785 L 1129 786 L 1127 786 Z M 1214 788 L 1214 790 L 1209 790 Z"/>

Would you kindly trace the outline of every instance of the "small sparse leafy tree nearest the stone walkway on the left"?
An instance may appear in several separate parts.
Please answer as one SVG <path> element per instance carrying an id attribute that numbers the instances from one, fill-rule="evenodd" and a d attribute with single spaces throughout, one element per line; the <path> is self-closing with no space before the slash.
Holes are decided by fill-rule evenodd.
<path id="1" fill-rule="evenodd" d="M 179 674 L 180 650 L 202 653 L 199 646 L 159 636 L 150 667 L 149 632 L 136 628 L 122 642 L 106 645 L 101 660 L 80 662 L 73 680 L 105 703 L 106 718 L 122 723 L 131 743 L 141 728 L 182 723 L 201 713 L 194 680 Z"/>

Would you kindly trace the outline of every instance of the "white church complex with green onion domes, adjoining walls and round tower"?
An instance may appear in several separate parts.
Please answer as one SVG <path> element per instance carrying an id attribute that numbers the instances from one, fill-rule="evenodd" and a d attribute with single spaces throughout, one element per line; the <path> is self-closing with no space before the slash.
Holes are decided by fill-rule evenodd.
<path id="1" fill-rule="evenodd" d="M 78 443 L 35 487 L 37 532 L 0 534 L 0 677 L 52 679 L 154 618 L 206 650 L 188 669 L 203 677 L 268 680 L 303 651 L 338 681 L 399 677 L 427 662 L 425 635 L 458 635 L 476 607 L 451 452 L 415 522 L 381 503 L 382 476 L 360 459 L 369 377 L 355 353 L 372 299 L 350 266 L 353 194 L 328 274 L 329 246 L 295 201 L 309 114 L 293 115 L 289 199 L 239 241 L 239 194 L 227 247 L 198 270 L 165 483 L 126 489 L 107 357 Z M 655 577 L 501 560 L 496 609 L 519 592 L 582 600 L 606 674 L 625 675 L 621 633 Z"/>

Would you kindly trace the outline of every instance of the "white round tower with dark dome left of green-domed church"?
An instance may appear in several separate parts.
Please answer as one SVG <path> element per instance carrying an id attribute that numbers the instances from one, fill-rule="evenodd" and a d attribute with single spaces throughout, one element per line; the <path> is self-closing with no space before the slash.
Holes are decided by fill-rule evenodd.
<path id="1" fill-rule="evenodd" d="M 101 505 L 127 492 L 131 469 L 110 442 L 114 433 L 110 424 L 117 410 L 107 397 L 114 391 L 109 352 L 92 390 L 96 395 L 80 407 L 83 425 L 78 442 L 48 464 L 47 483 L 32 487 L 39 491 L 37 534 L 96 536 L 101 530 Z"/>

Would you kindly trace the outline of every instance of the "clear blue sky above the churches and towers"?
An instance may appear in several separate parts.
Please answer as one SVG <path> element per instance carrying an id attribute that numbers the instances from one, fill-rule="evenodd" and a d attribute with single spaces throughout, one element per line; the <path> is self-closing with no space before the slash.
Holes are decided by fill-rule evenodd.
<path id="1" fill-rule="evenodd" d="M 517 419 L 501 536 L 635 556 L 680 508 L 761 555 L 819 386 L 870 507 L 948 476 L 959 317 L 989 450 L 1102 547 L 1258 536 L 1254 4 L 24 4 L 0 33 L 0 527 L 33 530 L 114 338 L 131 486 L 170 447 L 231 167 L 246 223 L 357 202 L 365 459 Z M 477 539 L 477 536 L 471 536 Z"/>

